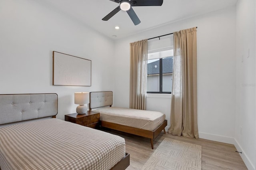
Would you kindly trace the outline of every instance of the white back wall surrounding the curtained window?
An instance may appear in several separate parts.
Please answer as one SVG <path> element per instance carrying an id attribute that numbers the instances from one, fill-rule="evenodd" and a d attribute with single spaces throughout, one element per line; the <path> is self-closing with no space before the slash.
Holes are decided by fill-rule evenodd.
<path id="1" fill-rule="evenodd" d="M 130 42 L 198 27 L 198 130 L 200 138 L 234 143 L 236 8 L 141 32 L 115 42 L 115 105 L 129 107 Z M 164 100 L 164 101 L 163 101 Z M 167 104 L 166 104 L 167 103 Z M 147 99 L 147 109 L 170 117 L 170 97 Z M 170 121 L 168 121 L 168 127 Z"/>

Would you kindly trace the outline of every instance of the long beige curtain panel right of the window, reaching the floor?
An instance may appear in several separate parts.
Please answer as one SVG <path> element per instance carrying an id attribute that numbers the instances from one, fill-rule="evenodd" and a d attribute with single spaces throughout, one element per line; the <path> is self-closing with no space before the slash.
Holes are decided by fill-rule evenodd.
<path id="1" fill-rule="evenodd" d="M 171 126 L 168 133 L 198 138 L 196 27 L 173 35 Z"/>

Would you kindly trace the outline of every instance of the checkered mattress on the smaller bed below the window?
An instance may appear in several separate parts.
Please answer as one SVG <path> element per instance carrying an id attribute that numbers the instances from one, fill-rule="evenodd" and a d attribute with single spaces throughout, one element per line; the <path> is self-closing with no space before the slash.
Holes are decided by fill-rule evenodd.
<path id="1" fill-rule="evenodd" d="M 100 112 L 100 121 L 150 131 L 154 131 L 165 120 L 165 114 L 156 111 L 145 111 L 120 107 L 104 107 L 94 111 Z"/>

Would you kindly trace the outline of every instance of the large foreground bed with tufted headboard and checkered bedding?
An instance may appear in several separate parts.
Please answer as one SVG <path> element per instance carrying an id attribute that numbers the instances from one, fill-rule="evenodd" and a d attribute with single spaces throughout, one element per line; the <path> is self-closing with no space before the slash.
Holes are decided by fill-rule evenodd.
<path id="1" fill-rule="evenodd" d="M 0 169 L 126 169 L 124 138 L 55 117 L 57 94 L 0 95 Z"/>

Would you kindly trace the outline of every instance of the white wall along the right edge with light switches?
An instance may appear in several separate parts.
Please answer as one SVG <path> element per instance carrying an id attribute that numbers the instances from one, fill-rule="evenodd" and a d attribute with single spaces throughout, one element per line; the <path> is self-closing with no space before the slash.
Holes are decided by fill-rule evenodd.
<path id="1" fill-rule="evenodd" d="M 255 10 L 255 0 L 239 0 L 236 5 L 235 146 L 242 152 L 240 155 L 248 169 L 255 169 L 256 163 Z"/>

